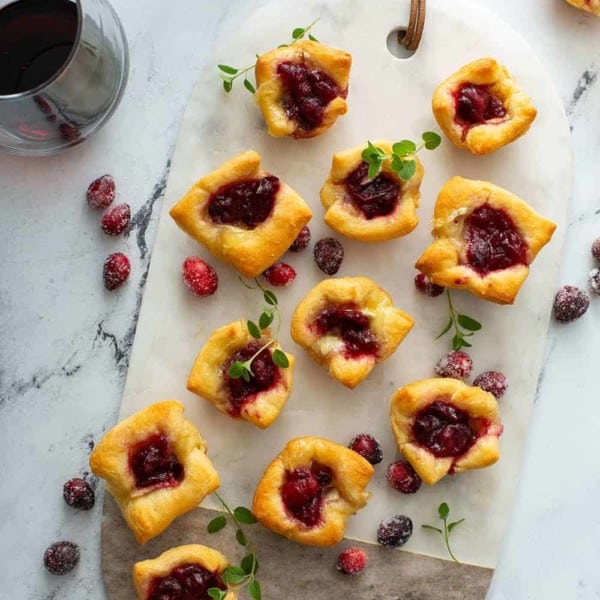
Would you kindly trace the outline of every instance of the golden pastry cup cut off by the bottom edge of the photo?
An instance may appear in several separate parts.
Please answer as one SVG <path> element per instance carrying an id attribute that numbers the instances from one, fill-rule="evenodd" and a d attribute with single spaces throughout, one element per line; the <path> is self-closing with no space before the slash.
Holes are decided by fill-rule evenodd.
<path id="1" fill-rule="evenodd" d="M 229 561 L 208 546 L 178 546 L 156 558 L 135 563 L 133 584 L 139 600 L 162 598 L 161 592 L 173 593 L 173 588 L 188 592 L 190 598 L 204 598 L 203 590 L 211 587 L 226 589 L 221 573 L 228 566 Z M 233 590 L 225 596 L 225 600 L 236 599 L 237 592 Z"/>

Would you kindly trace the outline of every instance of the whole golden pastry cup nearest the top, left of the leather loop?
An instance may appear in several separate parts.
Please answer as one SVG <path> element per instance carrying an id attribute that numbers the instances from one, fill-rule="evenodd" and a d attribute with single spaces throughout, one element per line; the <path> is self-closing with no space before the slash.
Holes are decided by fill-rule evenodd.
<path id="1" fill-rule="evenodd" d="M 329 129 L 346 113 L 351 66 L 348 52 L 309 40 L 259 56 L 255 98 L 269 134 L 310 138 Z"/>

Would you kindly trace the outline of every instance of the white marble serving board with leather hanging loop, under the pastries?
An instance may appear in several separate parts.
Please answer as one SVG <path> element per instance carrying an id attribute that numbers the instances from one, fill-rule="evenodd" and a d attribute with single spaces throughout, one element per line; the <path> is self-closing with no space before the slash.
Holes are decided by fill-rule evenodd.
<path id="1" fill-rule="evenodd" d="M 369 488 L 373 492 L 371 501 L 349 520 L 346 534 L 354 540 L 374 543 L 377 524 L 384 516 L 409 515 L 415 523 L 415 532 L 404 548 L 406 552 L 382 553 L 371 547 L 370 553 L 375 563 L 380 556 L 385 557 L 387 568 L 394 572 L 404 570 L 409 560 L 415 561 L 411 564 L 434 565 L 431 569 L 426 566 L 419 569 L 423 581 L 430 578 L 435 582 L 429 586 L 430 592 L 414 596 L 433 598 L 445 591 L 440 580 L 432 575 L 439 568 L 438 563 L 447 569 L 454 568 L 446 562 L 448 557 L 441 539 L 420 527 L 423 523 L 435 523 L 440 502 L 450 504 L 452 517 L 466 518 L 455 532 L 453 549 L 463 562 L 483 567 L 472 569 L 473 577 L 484 582 L 482 589 L 487 589 L 489 569 L 496 564 L 509 523 L 566 229 L 572 180 L 570 133 L 562 104 L 544 68 L 523 39 L 492 13 L 469 0 L 430 1 L 420 48 L 411 58 L 399 59 L 389 53 L 386 39 L 392 30 L 406 25 L 408 0 L 382 0 L 376 10 L 372 6 L 360 0 L 271 2 L 243 24 L 224 28 L 214 56 L 203 60 L 204 69 L 186 110 L 173 157 L 121 417 L 159 400 L 182 401 L 186 414 L 208 441 L 209 456 L 221 476 L 221 492 L 232 505 L 251 503 L 264 468 L 290 438 L 319 435 L 347 444 L 356 433 L 374 434 L 382 443 L 384 462 L 376 467 Z M 269 138 L 250 94 L 239 85 L 239 89 L 234 88 L 226 95 L 219 86 L 215 65 L 249 63 L 257 52 L 287 41 L 288 31 L 310 23 L 317 16 L 320 21 L 314 34 L 353 55 L 348 114 L 326 134 L 313 140 Z M 264 168 L 284 179 L 310 204 L 314 213 L 310 223 L 313 241 L 331 235 L 322 221 L 318 192 L 327 177 L 332 154 L 367 139 L 416 139 L 422 131 L 437 130 L 430 109 L 433 89 L 462 64 L 487 55 L 507 65 L 533 98 L 538 118 L 530 132 L 485 157 L 473 157 L 446 140 L 435 152 L 424 153 L 421 222 L 409 236 L 380 244 L 362 244 L 334 234 L 343 242 L 346 252 L 338 275 L 368 275 L 392 294 L 397 306 L 415 318 L 413 331 L 398 351 L 350 391 L 329 378 L 324 369 L 295 346 L 284 327 L 281 343 L 297 360 L 295 387 L 279 419 L 265 431 L 233 421 L 187 392 L 189 369 L 210 332 L 240 317 L 256 318 L 262 298 L 244 288 L 233 269 L 212 258 L 175 226 L 168 211 L 181 195 L 224 160 L 254 148 L 262 155 Z M 396 458 L 388 418 L 389 401 L 399 386 L 432 376 L 433 365 L 449 349 L 448 337 L 435 339 L 447 321 L 444 297 L 424 299 L 414 290 L 412 279 L 414 262 L 430 241 L 435 198 L 443 183 L 453 175 L 485 179 L 506 187 L 555 221 L 558 229 L 534 263 L 513 306 L 486 303 L 467 293 L 453 294 L 461 312 L 484 324 L 472 340 L 475 373 L 501 369 L 510 382 L 509 392 L 501 401 L 505 431 L 500 461 L 485 470 L 447 477 L 433 487 L 424 486 L 415 496 L 401 496 L 385 481 L 385 466 Z M 190 255 L 203 256 L 217 268 L 220 285 L 213 297 L 195 298 L 182 285 L 181 264 Z M 298 301 L 324 275 L 314 265 L 310 250 L 286 255 L 285 260 L 298 272 L 298 278 L 289 288 L 278 291 L 287 325 Z M 527 340 L 526 351 L 515 351 L 517 335 Z M 218 507 L 211 498 L 204 506 Z M 158 541 L 138 547 L 136 552 L 126 551 L 124 540 L 130 540 L 127 548 L 134 548 L 133 538 L 109 505 L 106 511 L 103 532 L 106 580 L 109 583 L 117 577 L 126 587 L 128 582 L 124 583 L 118 574 L 123 570 L 129 572 L 135 560 L 154 556 L 159 546 L 161 550 L 167 546 Z M 210 538 L 197 525 L 202 523 L 205 512 L 198 510 L 177 520 L 159 540 L 214 542 L 217 547 L 226 548 L 221 543 L 223 538 Z M 258 535 L 263 539 L 265 534 Z M 267 555 L 274 553 L 268 555 L 272 567 L 263 570 L 265 580 L 277 582 L 287 577 L 283 575 L 286 565 L 281 554 L 296 557 L 297 564 L 308 570 L 317 565 L 324 570 L 332 569 L 333 559 L 329 565 L 322 564 L 325 553 L 321 550 L 299 550 L 285 540 L 273 544 L 265 548 Z M 441 562 L 418 557 L 423 563 L 409 553 L 429 555 Z M 336 552 L 327 551 L 329 554 L 333 556 Z M 277 557 L 281 558 L 279 562 Z M 231 558 L 235 560 L 235 556 Z M 369 580 L 356 579 L 355 589 L 361 590 Z M 365 587 L 357 597 L 392 598 L 400 589 L 403 593 L 417 589 L 407 583 L 410 579 L 403 579 L 406 585 L 394 589 L 387 587 L 389 579 L 383 576 L 373 581 L 378 581 L 379 595 L 369 594 Z M 112 589 L 114 586 L 109 583 L 109 592 Z M 113 597 L 133 597 L 133 590 L 127 592 L 129 596 L 123 595 L 124 591 L 120 593 Z M 484 592 L 474 597 L 483 595 Z M 312 597 L 321 595 L 315 592 Z M 332 596 L 323 592 L 322 597 Z M 454 596 L 448 592 L 447 597 Z"/>

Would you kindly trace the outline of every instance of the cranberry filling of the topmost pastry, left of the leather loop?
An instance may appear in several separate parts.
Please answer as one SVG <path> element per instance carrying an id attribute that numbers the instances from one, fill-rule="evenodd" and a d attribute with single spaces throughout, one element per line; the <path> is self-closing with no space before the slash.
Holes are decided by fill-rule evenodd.
<path id="1" fill-rule="evenodd" d="M 306 61 L 282 62 L 277 66 L 277 74 L 284 87 L 285 114 L 304 130 L 319 127 L 325 107 L 337 96 L 345 98 L 347 94 L 329 75 Z"/>

